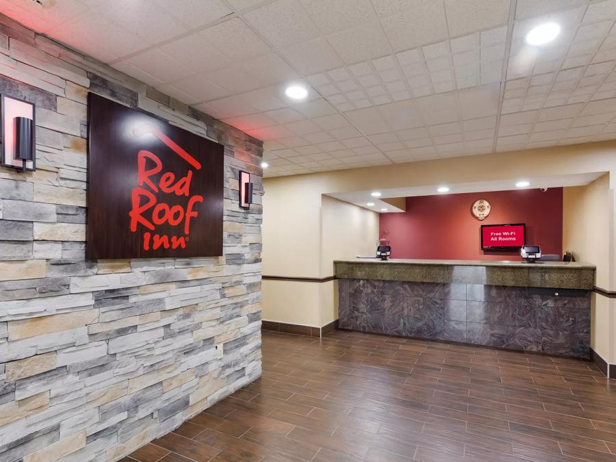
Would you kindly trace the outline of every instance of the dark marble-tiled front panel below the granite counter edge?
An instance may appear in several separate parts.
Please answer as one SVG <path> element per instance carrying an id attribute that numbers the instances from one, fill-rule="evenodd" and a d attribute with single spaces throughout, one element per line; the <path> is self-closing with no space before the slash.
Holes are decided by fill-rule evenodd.
<path id="1" fill-rule="evenodd" d="M 339 280 L 339 326 L 588 358 L 590 292 Z"/>

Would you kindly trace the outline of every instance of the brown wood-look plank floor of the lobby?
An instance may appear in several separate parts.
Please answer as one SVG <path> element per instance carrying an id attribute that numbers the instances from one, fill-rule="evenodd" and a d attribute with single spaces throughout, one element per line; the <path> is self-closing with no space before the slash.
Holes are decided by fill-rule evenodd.
<path id="1" fill-rule="evenodd" d="M 264 332 L 263 376 L 123 462 L 615 461 L 592 363 L 334 331 Z"/>

